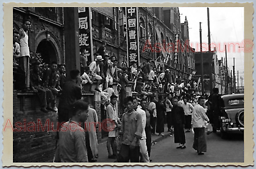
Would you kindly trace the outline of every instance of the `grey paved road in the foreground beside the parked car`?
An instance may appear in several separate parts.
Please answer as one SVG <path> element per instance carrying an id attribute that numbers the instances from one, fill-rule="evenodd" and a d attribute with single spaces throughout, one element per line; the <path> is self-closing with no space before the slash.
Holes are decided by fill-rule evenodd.
<path id="1" fill-rule="evenodd" d="M 232 135 L 227 140 L 220 138 L 220 133 L 207 135 L 207 152 L 198 156 L 192 148 L 193 133 L 186 133 L 186 149 L 176 149 L 173 136 L 152 146 L 152 163 L 243 163 L 243 134 Z"/>

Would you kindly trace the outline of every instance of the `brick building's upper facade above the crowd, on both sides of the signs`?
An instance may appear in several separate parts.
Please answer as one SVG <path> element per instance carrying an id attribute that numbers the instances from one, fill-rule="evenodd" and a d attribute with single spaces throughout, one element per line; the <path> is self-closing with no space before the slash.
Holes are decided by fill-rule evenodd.
<path id="1" fill-rule="evenodd" d="M 138 8 L 140 36 L 140 64 L 152 62 L 161 70 L 171 71 L 172 81 L 176 78 L 187 79 L 195 70 L 195 58 L 189 43 L 188 20 L 180 23 L 179 8 L 140 7 Z M 125 8 L 123 7 L 92 7 L 93 54 L 99 49 L 102 41 L 106 41 L 108 55 L 118 59 L 118 65 L 127 62 L 127 41 L 125 30 Z M 31 17 L 29 32 L 29 49 L 33 53 L 42 54 L 44 62 L 57 61 L 65 63 L 65 42 L 63 35 L 63 8 L 55 7 L 23 7 L 13 8 L 13 30 L 19 30 L 25 15 Z M 78 19 L 78 18 L 77 18 Z M 177 64 L 173 46 L 175 34 L 179 34 L 179 54 Z M 155 52 L 150 49 L 143 51 L 147 43 L 153 47 L 161 43 L 164 50 Z M 169 48 L 168 48 L 169 47 Z M 47 50 L 45 50 L 47 48 Z M 183 51 L 182 51 L 183 50 Z M 143 51 L 143 52 L 142 52 Z"/>

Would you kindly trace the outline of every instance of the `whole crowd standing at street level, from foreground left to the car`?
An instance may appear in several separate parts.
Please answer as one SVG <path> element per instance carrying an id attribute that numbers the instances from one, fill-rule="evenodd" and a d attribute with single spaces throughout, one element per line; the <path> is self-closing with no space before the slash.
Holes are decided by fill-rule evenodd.
<path id="1" fill-rule="evenodd" d="M 88 102 L 81 98 L 81 87 L 76 84 L 79 70 L 70 72 L 72 80 L 65 83 L 59 105 L 59 122 L 61 129 L 57 143 L 55 162 L 96 162 L 99 156 L 97 141 L 97 113 Z M 124 112 L 116 111 L 116 100 L 113 94 L 106 108 L 108 119 L 108 141 L 106 148 L 109 159 L 119 163 L 150 163 L 152 135 L 163 136 L 164 124 L 174 135 L 177 149 L 186 149 L 186 132 L 194 133 L 193 149 L 198 155 L 207 151 L 206 134 L 216 128 L 214 119 L 220 114 L 220 94 L 214 88 L 209 98 L 203 96 L 127 96 L 124 99 Z M 216 109 L 217 108 L 217 109 Z M 94 122 L 90 126 L 90 122 Z M 211 123 L 211 124 L 209 124 Z M 74 124 L 79 127 L 74 135 L 62 129 L 70 129 Z M 88 125 L 89 124 L 89 125 Z M 84 125 L 84 126 L 83 126 Z M 85 130 L 85 132 L 84 132 Z M 68 131 L 70 132 L 70 131 Z M 118 143 L 117 143 L 117 142 Z M 72 145 L 72 146 L 70 146 Z M 100 150 L 104 151 L 104 150 Z"/>

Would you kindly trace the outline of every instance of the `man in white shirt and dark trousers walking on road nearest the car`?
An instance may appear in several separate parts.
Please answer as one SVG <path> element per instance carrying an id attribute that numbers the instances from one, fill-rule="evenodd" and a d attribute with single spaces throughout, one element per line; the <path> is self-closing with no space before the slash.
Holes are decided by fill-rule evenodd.
<path id="1" fill-rule="evenodd" d="M 192 113 L 192 124 L 195 131 L 193 149 L 198 152 L 198 155 L 204 155 L 207 150 L 206 138 L 205 138 L 205 124 L 209 122 L 207 115 L 205 114 L 204 98 L 198 98 L 198 105 L 195 105 Z"/>

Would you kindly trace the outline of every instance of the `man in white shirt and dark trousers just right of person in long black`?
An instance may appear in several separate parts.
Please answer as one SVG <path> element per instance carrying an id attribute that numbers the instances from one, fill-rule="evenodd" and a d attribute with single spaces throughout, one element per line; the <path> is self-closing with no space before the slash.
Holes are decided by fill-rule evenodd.
<path id="1" fill-rule="evenodd" d="M 191 103 L 188 103 L 188 98 L 183 98 L 184 104 L 182 104 L 182 108 L 184 109 L 185 114 L 185 129 L 186 133 L 190 132 L 191 129 L 191 114 L 194 111 L 193 105 Z"/>

